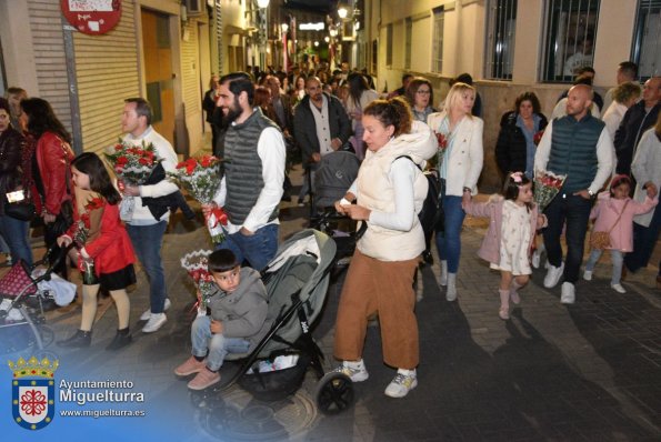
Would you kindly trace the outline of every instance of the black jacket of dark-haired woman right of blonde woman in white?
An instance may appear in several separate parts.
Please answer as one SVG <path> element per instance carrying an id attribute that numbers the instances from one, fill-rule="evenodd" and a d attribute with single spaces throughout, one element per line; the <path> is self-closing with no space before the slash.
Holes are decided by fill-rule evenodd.
<path id="1" fill-rule="evenodd" d="M 523 131 L 517 125 L 518 115 L 518 112 L 510 111 L 500 119 L 500 133 L 495 142 L 495 162 L 502 173 L 525 171 L 528 149 Z M 539 130 L 544 130 L 548 124 L 547 117 L 541 113 L 538 115 L 541 118 Z"/>

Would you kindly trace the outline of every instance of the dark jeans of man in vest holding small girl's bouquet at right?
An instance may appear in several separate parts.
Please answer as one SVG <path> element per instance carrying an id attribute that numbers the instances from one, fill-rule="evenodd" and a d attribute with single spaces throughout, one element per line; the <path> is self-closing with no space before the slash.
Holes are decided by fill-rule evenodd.
<path id="1" fill-rule="evenodd" d="M 579 280 L 583 250 L 585 247 L 585 232 L 592 200 L 581 195 L 559 193 L 544 210 L 549 225 L 543 230 L 547 257 L 553 267 L 562 264 L 562 247 L 560 235 L 567 222 L 565 241 L 567 259 L 564 260 L 564 281 L 574 284 Z"/>

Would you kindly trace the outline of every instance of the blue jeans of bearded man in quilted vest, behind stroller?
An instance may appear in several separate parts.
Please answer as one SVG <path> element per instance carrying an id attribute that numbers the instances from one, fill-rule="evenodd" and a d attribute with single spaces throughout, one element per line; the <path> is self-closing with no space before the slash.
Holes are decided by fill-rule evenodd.
<path id="1" fill-rule="evenodd" d="M 231 250 L 239 262 L 248 261 L 257 271 L 263 270 L 278 252 L 278 224 L 267 224 L 254 234 L 247 237 L 240 231 L 226 235 L 216 250 Z"/>

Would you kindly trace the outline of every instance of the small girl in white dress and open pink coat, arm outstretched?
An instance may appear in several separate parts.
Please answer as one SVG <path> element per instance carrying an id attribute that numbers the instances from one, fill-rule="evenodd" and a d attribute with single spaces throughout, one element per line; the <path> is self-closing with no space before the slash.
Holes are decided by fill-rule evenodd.
<path id="1" fill-rule="evenodd" d="M 539 214 L 532 202 L 532 182 L 523 172 L 508 175 L 503 188 L 504 199 L 491 197 L 488 202 L 463 204 L 465 213 L 490 218 L 489 230 L 478 255 L 500 270 L 500 310 L 502 320 L 510 319 L 510 299 L 518 304 L 517 290 L 530 279 L 530 253 L 534 233 L 545 225 L 547 219 Z"/>

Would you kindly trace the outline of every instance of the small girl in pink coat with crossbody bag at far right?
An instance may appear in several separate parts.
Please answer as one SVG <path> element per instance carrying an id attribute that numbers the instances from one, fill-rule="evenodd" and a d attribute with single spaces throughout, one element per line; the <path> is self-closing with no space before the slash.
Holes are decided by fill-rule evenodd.
<path id="1" fill-rule="evenodd" d="M 627 290 L 620 283 L 620 278 L 622 275 L 624 253 L 633 250 L 633 217 L 649 212 L 659 202 L 658 198 L 652 200 L 650 197 L 647 197 L 644 202 L 633 201 L 629 198 L 630 190 L 631 179 L 628 175 L 613 177 L 610 191 L 599 194 L 599 203 L 594 205 L 590 213 L 591 220 L 597 219 L 592 228 L 593 232 L 610 231 L 611 247 L 608 249 L 611 251 L 611 260 L 613 261 L 611 288 L 618 293 L 627 293 Z M 621 217 L 620 213 L 622 213 Z M 592 271 L 602 253 L 603 250 L 599 249 L 592 249 L 590 252 L 583 272 L 585 281 L 592 280 Z"/>

